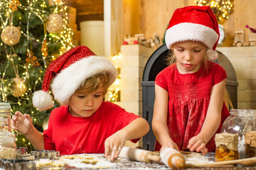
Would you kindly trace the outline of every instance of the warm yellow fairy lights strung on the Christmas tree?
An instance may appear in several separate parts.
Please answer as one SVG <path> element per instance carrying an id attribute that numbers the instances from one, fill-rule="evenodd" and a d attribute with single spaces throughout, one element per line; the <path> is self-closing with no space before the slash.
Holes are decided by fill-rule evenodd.
<path id="1" fill-rule="evenodd" d="M 11 23 L 11 21 L 10 21 L 10 19 L 12 19 L 14 17 L 14 12 L 15 12 L 15 11 L 12 11 L 10 8 L 10 6 L 13 6 L 13 4 L 18 4 L 17 7 L 20 8 L 21 10 L 30 11 L 28 13 L 28 18 L 25 18 L 26 20 L 29 21 L 29 17 L 31 16 L 31 13 L 33 13 L 41 20 L 42 23 L 46 22 L 47 16 L 50 13 L 48 13 L 48 11 L 44 10 L 43 8 L 48 7 L 46 5 L 46 3 L 48 3 L 48 1 L 42 1 L 42 4 L 40 5 L 41 8 L 37 8 L 37 6 L 36 6 L 38 4 L 37 0 L 27 1 L 28 6 L 23 6 L 22 4 L 20 4 L 19 2 L 17 3 L 17 2 L 18 1 L 14 1 L 14 0 L 1 0 L 0 1 L 0 7 L 1 7 L 0 19 L 1 19 L 1 23 L 2 23 L 1 29 L 4 29 L 8 25 L 13 25 L 13 23 Z M 67 9 L 67 6 L 63 6 L 62 1 L 60 1 L 60 3 L 57 3 L 56 1 L 54 1 L 54 3 L 55 3 L 55 8 L 53 8 L 53 13 L 63 13 L 63 11 L 65 11 Z M 4 11 L 5 11 L 5 13 L 4 13 Z M 68 26 L 68 13 L 65 12 L 64 15 L 65 15 L 65 17 L 63 17 L 63 30 L 60 31 L 60 33 L 52 34 L 52 33 L 47 33 L 47 31 L 44 31 L 44 33 L 42 33 L 45 35 L 45 38 L 48 38 L 48 43 L 54 43 L 55 41 L 58 41 L 61 43 L 62 46 L 60 48 L 62 50 L 60 50 L 59 55 L 62 55 L 63 51 L 70 50 L 70 48 L 72 47 L 73 31 Z M 6 16 L 9 16 L 9 17 L 6 17 Z M 22 21 L 24 19 L 22 17 L 25 17 L 25 16 L 20 16 L 19 17 L 20 21 Z M 28 24 L 29 24 L 29 22 L 28 22 Z M 24 35 L 28 40 L 35 40 L 36 42 L 41 42 L 40 40 L 37 40 L 37 39 L 31 37 L 29 30 L 21 30 L 21 34 Z M 47 45 L 48 45 L 48 43 L 47 43 Z M 0 47 L 3 45 L 4 45 L 4 43 L 1 43 Z M 27 50 L 29 48 L 30 47 L 27 47 Z M 43 50 L 46 51 L 46 49 L 43 49 Z M 46 61 L 45 61 L 46 57 L 43 52 L 42 52 L 42 56 L 43 56 L 42 59 L 44 61 L 44 67 L 46 68 L 47 67 Z M 4 57 L 4 56 L 1 56 L 1 57 Z M 9 58 L 9 55 L 7 55 L 6 57 Z M 51 56 L 51 57 L 53 57 L 53 60 L 55 59 L 54 56 Z M 9 59 L 9 60 L 11 62 L 13 62 L 13 59 Z M 21 79 L 27 79 L 28 75 L 29 75 L 27 71 L 28 71 L 29 67 L 31 67 L 31 64 L 28 64 L 28 65 L 24 64 L 23 67 L 26 69 L 26 72 L 21 73 L 21 75 L 23 75 L 23 77 L 21 77 Z M 2 81 L 1 86 L 0 86 L 0 90 L 2 91 L 1 100 L 8 101 L 6 98 L 7 94 L 4 93 L 4 92 L 7 92 L 5 85 L 4 85 L 4 82 L 6 81 L 4 79 L 4 74 L 6 74 L 6 73 L 0 72 L 1 81 Z M 40 77 L 38 77 L 38 81 L 41 81 Z M 19 85 L 17 84 L 17 86 L 19 86 Z M 24 86 L 25 85 L 22 84 L 22 87 L 24 87 Z M 36 86 L 36 84 L 35 84 L 35 86 Z M 21 98 L 18 98 L 18 102 L 20 102 L 24 98 L 28 99 L 28 96 L 24 95 Z"/>

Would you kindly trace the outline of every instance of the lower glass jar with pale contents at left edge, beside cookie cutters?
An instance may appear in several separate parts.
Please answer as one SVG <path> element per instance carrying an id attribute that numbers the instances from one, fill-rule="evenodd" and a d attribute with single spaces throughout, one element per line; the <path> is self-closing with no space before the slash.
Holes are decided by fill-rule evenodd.
<path id="1" fill-rule="evenodd" d="M 9 132 L 6 136 L 0 136 L 0 159 L 16 158 L 15 135 Z"/>

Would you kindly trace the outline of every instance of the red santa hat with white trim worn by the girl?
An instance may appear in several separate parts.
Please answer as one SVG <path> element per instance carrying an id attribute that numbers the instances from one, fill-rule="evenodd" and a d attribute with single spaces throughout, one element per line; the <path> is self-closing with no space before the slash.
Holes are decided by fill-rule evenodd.
<path id="1" fill-rule="evenodd" d="M 208 60 L 218 58 L 215 51 L 220 32 L 218 21 L 210 6 L 186 6 L 177 8 L 166 30 L 165 42 L 171 48 L 175 42 L 196 40 L 208 47 Z"/>

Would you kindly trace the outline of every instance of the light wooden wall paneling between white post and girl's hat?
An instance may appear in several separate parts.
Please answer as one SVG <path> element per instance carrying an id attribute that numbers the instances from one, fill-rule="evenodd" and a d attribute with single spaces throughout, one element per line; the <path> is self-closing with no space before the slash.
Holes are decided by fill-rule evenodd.
<path id="1" fill-rule="evenodd" d="M 194 5 L 193 0 L 123 0 L 124 34 L 143 33 L 146 38 L 157 33 L 162 39 L 176 8 Z"/>

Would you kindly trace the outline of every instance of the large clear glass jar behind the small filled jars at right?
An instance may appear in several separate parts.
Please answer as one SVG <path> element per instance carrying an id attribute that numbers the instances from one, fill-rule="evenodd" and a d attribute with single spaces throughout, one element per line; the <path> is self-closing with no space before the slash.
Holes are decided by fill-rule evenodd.
<path id="1" fill-rule="evenodd" d="M 256 128 L 255 115 L 256 110 L 231 109 L 230 116 L 224 121 L 223 126 L 221 127 L 220 132 L 228 132 L 238 135 L 239 154 L 245 154 L 245 132 Z"/>

